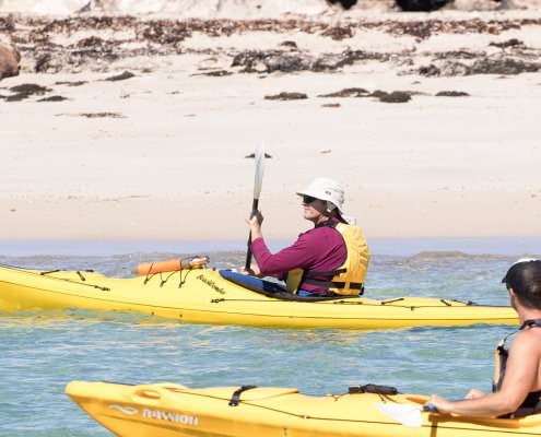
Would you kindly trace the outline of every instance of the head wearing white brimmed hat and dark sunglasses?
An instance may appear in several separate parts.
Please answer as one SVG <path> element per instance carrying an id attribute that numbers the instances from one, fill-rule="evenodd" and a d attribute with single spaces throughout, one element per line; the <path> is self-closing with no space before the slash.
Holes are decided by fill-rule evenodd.
<path id="1" fill-rule="evenodd" d="M 297 192 L 303 198 L 304 217 L 318 223 L 328 217 L 342 218 L 344 189 L 336 180 L 319 177 L 311 181 L 303 191 Z"/>

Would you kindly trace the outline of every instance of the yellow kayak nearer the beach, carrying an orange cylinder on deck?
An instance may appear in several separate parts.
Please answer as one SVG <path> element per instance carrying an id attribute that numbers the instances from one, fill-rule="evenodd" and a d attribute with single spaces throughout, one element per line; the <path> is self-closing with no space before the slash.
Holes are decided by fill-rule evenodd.
<path id="1" fill-rule="evenodd" d="M 213 269 L 118 279 L 92 271 L 0 268 L 0 311 L 66 308 L 136 311 L 192 323 L 277 328 L 518 323 L 510 307 L 421 297 L 298 297 L 284 293 L 275 283 Z"/>

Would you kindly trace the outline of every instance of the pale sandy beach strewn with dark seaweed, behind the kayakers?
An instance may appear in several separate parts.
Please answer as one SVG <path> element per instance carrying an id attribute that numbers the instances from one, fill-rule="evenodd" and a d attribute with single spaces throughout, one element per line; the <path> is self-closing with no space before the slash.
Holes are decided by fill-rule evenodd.
<path id="1" fill-rule="evenodd" d="M 246 238 L 260 141 L 268 238 L 317 176 L 368 237 L 541 236 L 539 2 L 238 14 L 0 9 L 0 240 Z"/>

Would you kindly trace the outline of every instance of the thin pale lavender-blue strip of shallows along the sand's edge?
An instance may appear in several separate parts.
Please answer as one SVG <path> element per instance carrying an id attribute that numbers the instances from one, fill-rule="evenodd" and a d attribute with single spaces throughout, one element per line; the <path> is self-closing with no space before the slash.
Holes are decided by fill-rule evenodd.
<path id="1" fill-rule="evenodd" d="M 290 240 L 268 241 L 272 252 Z M 440 237 L 440 238 L 369 238 L 373 256 L 425 257 L 436 259 L 468 257 L 538 257 L 541 237 Z M 246 240 L 153 241 L 153 240 L 9 240 L 0 241 L 0 258 L 32 257 L 113 257 L 148 255 L 149 257 L 245 252 Z M 212 261 L 212 259 L 211 259 Z"/>

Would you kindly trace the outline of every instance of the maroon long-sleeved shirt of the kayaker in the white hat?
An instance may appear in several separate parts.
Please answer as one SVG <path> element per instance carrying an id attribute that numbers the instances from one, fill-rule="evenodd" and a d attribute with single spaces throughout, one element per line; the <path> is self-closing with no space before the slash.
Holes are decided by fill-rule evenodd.
<path id="1" fill-rule="evenodd" d="M 345 262 L 348 250 L 340 233 L 330 226 L 316 226 L 301 234 L 290 247 L 272 255 L 263 238 L 251 243 L 251 252 L 262 274 L 282 276 L 290 270 L 304 269 L 314 271 L 332 271 Z M 317 280 L 329 281 L 326 276 Z M 325 287 L 301 284 L 307 292 L 324 292 Z"/>

